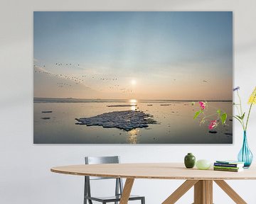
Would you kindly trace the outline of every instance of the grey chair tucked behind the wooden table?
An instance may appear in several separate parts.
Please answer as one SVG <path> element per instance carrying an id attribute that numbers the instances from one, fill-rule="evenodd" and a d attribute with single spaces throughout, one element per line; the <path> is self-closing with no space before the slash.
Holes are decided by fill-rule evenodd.
<path id="1" fill-rule="evenodd" d="M 85 164 L 119 164 L 119 156 L 113 157 L 85 157 Z M 108 197 L 95 197 L 91 195 L 90 192 L 90 180 L 100 180 L 100 179 L 114 179 L 107 177 L 96 177 L 96 176 L 85 176 L 85 191 L 84 191 L 84 204 L 92 204 L 92 200 L 100 202 L 102 204 L 111 203 L 117 204 L 122 196 L 123 183 L 122 179 L 116 179 L 115 184 L 115 194 L 114 196 Z M 129 200 L 141 200 L 141 204 L 145 204 L 144 196 L 129 196 Z"/>

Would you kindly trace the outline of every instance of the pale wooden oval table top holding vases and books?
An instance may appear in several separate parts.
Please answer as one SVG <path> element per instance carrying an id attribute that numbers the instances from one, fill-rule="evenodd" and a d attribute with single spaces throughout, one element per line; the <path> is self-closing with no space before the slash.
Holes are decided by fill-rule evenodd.
<path id="1" fill-rule="evenodd" d="M 129 179 L 241 180 L 256 179 L 256 166 L 240 172 L 186 169 L 183 163 L 82 164 L 57 166 L 55 173 Z"/>

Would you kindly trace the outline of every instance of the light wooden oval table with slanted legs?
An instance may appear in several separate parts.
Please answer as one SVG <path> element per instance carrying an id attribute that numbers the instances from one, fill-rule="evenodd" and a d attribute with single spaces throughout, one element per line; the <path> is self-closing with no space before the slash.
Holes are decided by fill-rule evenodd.
<path id="1" fill-rule="evenodd" d="M 255 166 L 241 172 L 213 171 L 213 169 L 186 169 L 182 163 L 136 163 L 136 164 L 83 164 L 57 166 L 50 169 L 59 174 L 125 178 L 120 204 L 127 204 L 134 179 L 186 180 L 162 204 L 176 203 L 194 186 L 195 204 L 213 203 L 213 181 L 232 198 L 235 203 L 246 203 L 224 180 L 256 179 Z"/>

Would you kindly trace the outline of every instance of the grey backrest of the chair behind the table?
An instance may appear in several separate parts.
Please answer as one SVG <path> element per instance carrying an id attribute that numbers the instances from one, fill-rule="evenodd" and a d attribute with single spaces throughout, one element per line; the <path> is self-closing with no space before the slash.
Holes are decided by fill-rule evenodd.
<path id="1" fill-rule="evenodd" d="M 119 156 L 111 157 L 85 157 L 85 164 L 119 164 Z M 90 180 L 113 179 L 107 177 L 90 176 Z"/>

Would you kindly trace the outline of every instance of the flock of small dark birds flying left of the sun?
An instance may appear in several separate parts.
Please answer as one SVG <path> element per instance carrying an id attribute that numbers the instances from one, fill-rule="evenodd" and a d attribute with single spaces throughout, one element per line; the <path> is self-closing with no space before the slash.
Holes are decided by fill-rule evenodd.
<path id="1" fill-rule="evenodd" d="M 60 63 L 60 62 L 57 62 L 55 63 L 55 66 L 58 66 L 58 67 L 62 67 L 62 66 L 77 66 L 77 67 L 80 67 L 80 64 L 72 64 L 72 63 Z M 51 77 L 57 77 L 59 79 L 67 79 L 69 81 L 73 81 L 75 84 L 83 84 L 85 85 L 85 82 L 87 81 L 86 79 L 95 79 L 95 80 L 100 80 L 100 81 L 109 81 L 109 82 L 114 82 L 115 84 L 112 84 L 110 83 L 109 86 L 108 86 L 108 89 L 110 90 L 115 90 L 115 91 L 119 91 L 121 93 L 132 93 L 133 90 L 131 89 L 125 89 L 125 88 L 120 88 L 120 85 L 117 84 L 115 81 L 117 81 L 118 79 L 116 77 L 109 77 L 109 78 L 98 78 L 98 77 L 95 77 L 95 76 L 89 76 L 89 75 L 81 75 L 80 77 L 76 77 L 76 76 L 69 76 L 69 75 L 66 75 L 66 74 L 53 74 L 51 72 L 48 72 L 46 71 L 46 65 L 43 64 L 43 65 L 34 65 L 34 68 L 38 67 L 38 69 L 35 69 L 35 73 L 36 74 L 48 74 L 49 76 Z M 43 68 L 43 69 L 41 69 Z M 57 82 L 57 87 L 58 88 L 67 88 L 67 87 L 70 87 L 70 86 L 73 86 L 72 83 L 69 84 L 69 83 L 65 83 L 65 82 L 60 82 L 58 81 Z M 104 91 L 102 89 L 100 89 L 100 91 Z"/>

